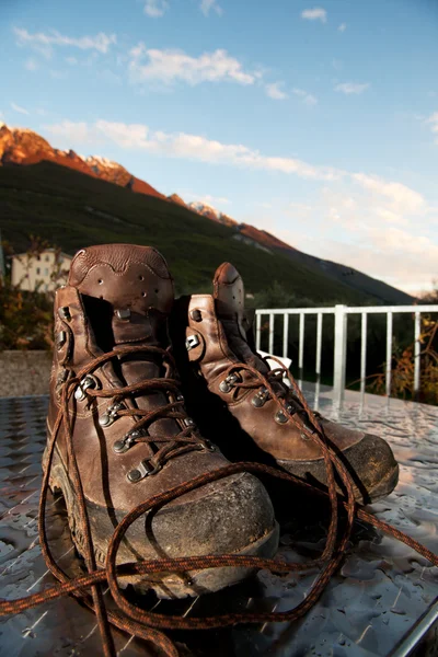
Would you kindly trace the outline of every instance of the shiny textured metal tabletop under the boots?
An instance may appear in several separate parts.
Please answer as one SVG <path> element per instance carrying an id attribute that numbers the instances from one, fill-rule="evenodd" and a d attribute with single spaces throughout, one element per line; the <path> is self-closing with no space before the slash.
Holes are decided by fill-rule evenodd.
<path id="1" fill-rule="evenodd" d="M 0 597 L 7 599 L 54 584 L 37 538 L 46 407 L 45 396 L 0 399 Z M 391 401 L 388 410 L 384 400 L 369 396 L 360 414 L 358 396 L 351 393 L 343 412 L 336 414 L 330 395 L 323 393 L 320 410 L 390 441 L 401 463 L 401 481 L 392 495 L 370 509 L 437 553 L 438 408 Z M 313 556 L 325 540 L 325 510 L 292 487 L 279 499 L 280 552 L 290 561 Z M 54 553 L 70 574 L 83 573 L 62 500 L 49 497 L 48 507 Z M 142 602 L 162 613 L 186 615 L 244 609 L 283 611 L 303 599 L 315 576 L 316 572 L 286 577 L 261 572 L 208 597 L 160 602 L 150 595 Z M 196 657 L 403 656 L 434 620 L 437 596 L 438 568 L 394 539 L 357 525 L 342 569 L 299 622 L 180 632 L 172 637 L 182 655 Z M 124 657 L 155 655 L 146 642 L 122 632 L 115 632 L 115 642 Z M 427 649 L 436 654 L 434 645 Z M 423 647 L 420 654 L 425 650 Z M 1 656 L 101 654 L 94 615 L 72 598 L 0 619 Z"/>

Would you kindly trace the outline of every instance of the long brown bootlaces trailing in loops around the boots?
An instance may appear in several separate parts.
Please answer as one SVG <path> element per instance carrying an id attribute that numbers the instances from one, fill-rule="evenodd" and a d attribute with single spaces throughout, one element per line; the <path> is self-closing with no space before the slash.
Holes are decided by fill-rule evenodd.
<path id="1" fill-rule="evenodd" d="M 297 383 L 293 378 L 289 374 L 287 370 L 284 368 L 283 371 L 287 373 L 289 377 L 293 393 L 299 399 L 302 407 L 306 410 L 309 420 L 313 427 L 309 428 L 307 424 L 303 424 L 300 417 L 297 417 L 297 413 L 289 413 L 288 404 L 285 399 L 278 396 L 276 391 L 274 390 L 272 382 L 269 381 L 269 377 L 263 376 L 258 370 L 252 368 L 244 364 L 233 365 L 229 368 L 229 372 L 238 371 L 238 370 L 246 370 L 254 377 L 254 382 L 257 381 L 257 387 L 263 384 L 269 392 L 273 399 L 275 399 L 280 407 L 280 410 L 287 414 L 289 419 L 299 426 L 300 430 L 303 431 L 307 437 L 320 447 L 327 472 L 327 493 L 319 491 L 314 488 L 312 485 L 303 482 L 292 474 L 289 474 L 280 469 L 270 468 L 268 465 L 260 464 L 260 463 L 231 463 L 221 468 L 219 470 L 212 471 L 208 474 L 199 475 L 184 484 L 175 486 L 174 488 L 155 495 L 149 498 L 147 502 L 138 505 L 135 509 L 132 509 L 129 514 L 125 516 L 122 522 L 117 526 L 112 537 L 112 540 L 108 545 L 107 556 L 105 569 L 97 569 L 94 551 L 93 551 L 93 542 L 91 538 L 90 522 L 85 508 L 85 498 L 83 495 L 81 477 L 78 469 L 78 463 L 74 457 L 74 447 L 72 439 L 72 430 L 71 430 L 71 420 L 69 413 L 69 400 L 71 394 L 74 391 L 74 388 L 80 383 L 81 379 L 94 371 L 100 365 L 110 360 L 111 358 L 118 357 L 120 355 L 135 354 L 139 351 L 149 350 L 150 347 L 139 347 L 139 346 L 128 346 L 119 348 L 115 351 L 105 354 L 95 360 L 93 360 L 90 365 L 84 367 L 80 372 L 77 373 L 74 378 L 68 380 L 64 387 L 62 395 L 61 395 L 61 406 L 51 433 L 51 436 L 47 446 L 47 464 L 46 470 L 43 476 L 42 484 L 42 494 L 39 499 L 39 516 L 38 516 L 38 532 L 39 532 L 39 541 L 42 545 L 42 552 L 47 564 L 47 567 L 53 573 L 53 575 L 58 579 L 59 584 L 46 589 L 43 592 L 34 593 L 26 598 L 21 598 L 19 600 L 1 600 L 0 601 L 0 615 L 20 613 L 26 609 L 36 607 L 41 603 L 47 602 L 49 600 L 54 600 L 61 596 L 73 595 L 78 598 L 81 598 L 88 607 L 90 607 L 96 614 L 97 624 L 102 636 L 102 645 L 103 650 L 106 656 L 114 657 L 115 648 L 113 643 L 113 637 L 111 634 L 110 625 L 129 632 L 130 634 L 137 635 L 143 639 L 147 639 L 154 644 L 158 648 L 160 648 L 165 655 L 169 657 L 177 657 L 178 653 L 174 643 L 163 633 L 163 630 L 206 630 L 211 627 L 224 627 L 229 625 L 235 625 L 238 623 L 266 623 L 266 622 L 279 622 L 279 621 L 295 621 L 302 616 L 315 603 L 324 588 L 330 581 L 331 576 L 337 569 L 341 561 L 344 556 L 344 550 L 347 545 L 348 539 L 351 533 L 353 523 L 355 518 L 358 518 L 377 529 L 384 531 L 385 533 L 394 537 L 395 539 L 402 541 L 419 554 L 422 554 L 425 558 L 427 558 L 435 566 L 438 566 L 438 556 L 433 552 L 427 550 L 424 545 L 419 544 L 414 539 L 407 537 L 400 530 L 389 526 L 382 520 L 377 519 L 371 514 L 365 511 L 362 508 L 357 507 L 354 493 L 353 493 L 353 483 L 348 472 L 346 471 L 344 464 L 339 461 L 338 457 L 331 449 L 327 443 L 323 429 L 321 428 L 318 417 L 312 413 L 309 408 L 304 397 L 301 394 Z M 163 349 L 155 348 L 157 351 L 160 351 L 164 357 Z M 229 373 L 228 372 L 228 373 Z M 154 383 L 158 384 L 160 380 L 153 380 Z M 162 381 L 162 380 L 161 380 Z M 274 382 L 274 381 L 273 381 Z M 175 388 L 177 387 L 176 380 L 174 380 Z M 252 385 L 251 385 L 252 387 Z M 255 387 L 255 385 L 254 385 Z M 149 387 L 150 389 L 151 387 Z M 141 390 L 147 390 L 147 382 L 139 383 L 136 385 L 126 387 L 124 389 L 119 389 L 117 392 L 120 395 L 125 394 L 135 394 Z M 169 390 L 169 387 L 166 387 Z M 92 393 L 90 396 L 99 396 L 99 393 L 104 393 L 102 396 L 115 396 L 114 390 L 112 390 L 112 394 L 110 391 L 87 391 L 88 393 Z M 180 407 L 182 404 L 180 405 Z M 164 412 L 164 408 L 166 411 Z M 169 404 L 168 406 L 161 410 L 162 414 L 166 413 L 175 413 L 175 404 Z M 154 412 L 153 412 L 154 413 Z M 181 413 L 184 413 L 181 411 Z M 138 410 L 135 411 L 135 415 L 142 415 L 138 413 Z M 155 415 L 158 417 L 159 415 Z M 162 415 L 160 415 L 161 417 Z M 169 416 L 169 415 L 168 415 Z M 174 416 L 174 415 L 172 415 Z M 143 417 L 139 422 L 143 422 L 145 424 L 149 420 L 152 420 L 151 414 L 143 415 Z M 88 574 L 82 577 L 77 577 L 74 579 L 70 579 L 69 576 L 57 565 L 54 560 L 46 537 L 45 530 L 45 517 L 46 517 L 46 502 L 47 494 L 49 487 L 49 476 L 51 462 L 54 457 L 54 449 L 58 436 L 58 431 L 60 426 L 64 425 L 66 441 L 67 441 L 67 450 L 69 461 L 71 463 L 69 469 L 69 474 L 71 476 L 71 481 L 74 487 L 76 495 L 79 502 L 79 522 L 82 529 L 82 533 L 84 535 L 84 551 L 85 551 L 85 565 L 88 569 Z M 140 425 L 143 426 L 143 425 Z M 192 429 L 193 433 L 193 429 Z M 189 431 L 182 431 L 177 437 L 172 437 L 172 440 L 180 440 L 182 442 L 191 442 L 193 438 L 191 438 Z M 201 440 L 199 439 L 199 442 Z M 187 445 L 188 446 L 188 445 Z M 196 448 L 194 446 L 189 446 L 191 448 Z M 175 454 L 176 456 L 176 454 Z M 336 493 L 336 485 L 334 473 L 337 472 L 341 477 L 345 489 L 346 489 L 346 499 L 342 500 Z M 284 561 L 275 560 L 275 558 L 263 558 L 257 556 L 245 556 L 245 555 L 235 555 L 235 554 L 224 554 L 224 555 L 205 555 L 205 556 L 192 556 L 192 557 L 181 557 L 181 558 L 159 558 L 152 561 L 143 561 L 143 562 L 135 562 L 129 564 L 123 564 L 116 566 L 117 551 L 120 545 L 120 542 L 126 534 L 128 528 L 132 525 L 132 522 L 142 516 L 143 514 L 162 506 L 172 499 L 184 495 L 199 486 L 206 485 L 210 482 L 220 480 L 222 477 L 230 476 L 231 474 L 235 474 L 238 472 L 252 472 L 254 474 L 263 474 L 270 475 L 287 482 L 290 482 L 295 485 L 299 485 L 313 494 L 318 494 L 321 496 L 327 496 L 331 503 L 332 516 L 327 531 L 326 544 L 318 558 L 313 558 L 308 561 L 306 564 L 302 563 L 286 563 Z M 343 506 L 346 510 L 346 522 L 343 523 L 343 531 L 341 532 L 341 539 L 338 539 L 337 534 L 339 531 L 339 516 L 338 509 L 339 506 Z M 119 585 L 118 578 L 132 576 L 132 575 L 150 575 L 158 574 L 163 572 L 172 572 L 172 573 L 183 573 L 187 570 L 197 570 L 203 568 L 215 568 L 215 567 L 223 567 L 223 566 L 241 566 L 247 568 L 265 568 L 276 574 L 287 574 L 291 572 L 303 572 L 310 568 L 320 567 L 320 574 L 315 581 L 313 583 L 310 592 L 307 598 L 300 602 L 297 607 L 289 611 L 284 612 L 261 612 L 261 613 L 227 613 L 215 616 L 206 616 L 206 618 L 181 618 L 177 615 L 161 615 L 154 613 L 152 611 L 145 611 L 143 609 L 137 607 L 129 602 Z M 118 611 L 110 611 L 106 609 L 103 596 L 102 596 L 102 584 L 107 583 L 110 586 L 110 590 L 113 599 L 115 600 Z M 88 589 L 91 589 L 91 596 L 88 592 Z"/>

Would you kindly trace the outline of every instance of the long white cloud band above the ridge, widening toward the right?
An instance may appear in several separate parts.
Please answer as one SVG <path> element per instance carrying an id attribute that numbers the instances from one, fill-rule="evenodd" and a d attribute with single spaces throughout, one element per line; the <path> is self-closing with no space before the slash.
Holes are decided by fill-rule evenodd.
<path id="1" fill-rule="evenodd" d="M 142 124 L 66 120 L 45 126 L 45 131 L 64 140 L 61 148 L 100 143 L 102 149 L 113 142 L 126 150 L 322 181 L 320 193 L 312 187 L 311 201 L 306 196 L 293 203 L 285 199 L 280 201 L 283 208 L 275 205 L 275 211 L 258 204 L 255 217 L 235 218 L 265 228 L 307 253 L 341 262 L 397 287 L 422 289 L 436 276 L 438 246 L 430 227 L 435 217 L 438 223 L 438 208 L 402 183 L 267 155 L 241 143 L 222 143 L 200 135 L 153 130 Z M 217 207 L 228 200 L 187 192 L 182 196 Z M 293 227 L 277 226 L 280 216 L 292 217 Z"/>

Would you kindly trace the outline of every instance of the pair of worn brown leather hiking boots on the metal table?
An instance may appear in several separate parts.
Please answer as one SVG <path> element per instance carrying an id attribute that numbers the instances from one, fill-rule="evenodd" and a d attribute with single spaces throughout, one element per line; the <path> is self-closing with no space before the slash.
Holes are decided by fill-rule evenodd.
<path id="1" fill-rule="evenodd" d="M 79 553 L 87 556 L 89 541 L 100 567 L 129 511 L 194 477 L 208 479 L 228 460 L 274 463 L 323 488 L 326 468 L 315 435 L 350 474 L 359 504 L 396 484 L 399 468 L 384 440 L 312 414 L 286 370 L 272 370 L 257 355 L 243 283 L 228 263 L 216 272 L 212 296 L 175 302 L 154 249 L 79 251 L 68 284 L 56 292 L 55 338 L 43 468 L 51 491 L 65 497 Z M 140 515 L 117 563 L 270 557 L 277 546 L 269 496 L 258 479 L 240 472 Z M 125 583 L 182 598 L 219 590 L 250 572 L 204 568 Z"/>

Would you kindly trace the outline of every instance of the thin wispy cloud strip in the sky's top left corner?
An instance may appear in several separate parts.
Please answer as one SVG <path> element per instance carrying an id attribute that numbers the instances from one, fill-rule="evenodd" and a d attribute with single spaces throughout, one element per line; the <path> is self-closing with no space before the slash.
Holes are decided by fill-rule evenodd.
<path id="1" fill-rule="evenodd" d="M 100 32 L 95 36 L 71 37 L 53 31 L 48 34 L 37 32 L 31 34 L 27 30 L 14 27 L 13 33 L 16 36 L 19 46 L 30 46 L 49 58 L 54 46 L 70 46 L 81 50 L 96 50 L 106 54 L 111 46 L 117 43 L 115 34 L 105 34 Z"/>

